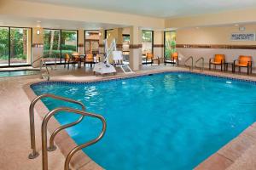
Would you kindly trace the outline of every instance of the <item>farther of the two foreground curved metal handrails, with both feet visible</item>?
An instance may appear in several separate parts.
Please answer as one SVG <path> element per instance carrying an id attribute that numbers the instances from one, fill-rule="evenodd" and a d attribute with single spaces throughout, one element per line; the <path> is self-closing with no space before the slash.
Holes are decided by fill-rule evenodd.
<path id="1" fill-rule="evenodd" d="M 32 153 L 29 154 L 29 156 L 28 156 L 29 159 L 34 159 L 34 158 L 39 156 L 39 153 L 36 149 L 34 107 L 35 107 L 35 105 L 36 105 L 36 103 L 38 102 L 39 99 L 43 99 L 43 98 L 47 98 L 47 97 L 52 98 L 52 99 L 59 99 L 59 100 L 62 100 L 62 101 L 67 101 L 69 103 L 80 105 L 82 107 L 82 110 L 85 111 L 85 106 L 82 102 L 79 102 L 79 101 L 76 101 L 76 100 L 73 100 L 73 99 L 64 98 L 64 97 L 61 97 L 61 96 L 56 96 L 54 94 L 42 94 L 42 95 L 39 95 L 38 97 L 36 97 L 35 99 L 33 99 L 30 106 L 29 106 L 30 139 L 31 139 L 31 149 L 32 149 Z M 52 135 L 50 137 L 49 150 L 55 150 L 53 140 L 54 140 L 55 135 L 57 133 L 59 133 L 61 130 L 65 129 L 67 127 L 72 127 L 72 126 L 78 124 L 79 122 L 81 122 L 83 120 L 83 118 L 84 118 L 84 116 L 81 116 L 81 117 L 79 117 L 79 120 L 77 120 L 76 122 L 72 122 L 72 123 L 69 123 L 67 125 L 63 125 L 63 126 L 57 128 L 55 130 L 55 132 L 52 133 Z"/>

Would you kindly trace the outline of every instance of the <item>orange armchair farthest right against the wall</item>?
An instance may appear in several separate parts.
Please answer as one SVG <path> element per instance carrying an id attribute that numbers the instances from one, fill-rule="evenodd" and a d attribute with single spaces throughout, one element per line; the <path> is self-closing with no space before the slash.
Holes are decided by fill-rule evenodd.
<path id="1" fill-rule="evenodd" d="M 249 73 L 252 73 L 253 71 L 252 56 L 240 55 L 238 59 L 234 60 L 234 71 L 236 71 L 236 67 L 239 67 L 239 72 L 241 72 L 241 67 L 247 67 L 247 75 Z"/>

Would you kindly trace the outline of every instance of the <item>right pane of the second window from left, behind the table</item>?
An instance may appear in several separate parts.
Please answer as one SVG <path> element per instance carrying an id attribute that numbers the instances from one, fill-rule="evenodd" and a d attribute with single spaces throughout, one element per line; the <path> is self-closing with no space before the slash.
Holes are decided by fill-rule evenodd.
<path id="1" fill-rule="evenodd" d="M 78 51 L 78 31 L 61 30 L 61 60 L 64 62 L 65 54 Z"/>

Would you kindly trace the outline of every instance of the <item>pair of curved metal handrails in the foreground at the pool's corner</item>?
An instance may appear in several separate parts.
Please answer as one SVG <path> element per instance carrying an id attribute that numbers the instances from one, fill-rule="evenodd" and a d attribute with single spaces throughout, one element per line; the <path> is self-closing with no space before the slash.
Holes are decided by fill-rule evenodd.
<path id="1" fill-rule="evenodd" d="M 39 153 L 36 149 L 34 107 L 37 104 L 38 100 L 44 99 L 44 98 L 58 99 L 58 100 L 65 101 L 65 102 L 68 102 L 68 103 L 73 103 L 73 104 L 76 104 L 76 105 L 80 105 L 81 108 L 82 108 L 82 111 L 77 110 L 77 109 L 73 109 L 73 108 L 69 108 L 69 107 L 58 107 L 58 108 L 55 108 L 52 111 L 49 111 L 44 116 L 44 119 L 43 119 L 43 122 L 42 122 L 42 127 L 41 127 L 41 133 L 42 133 L 42 166 L 43 166 L 43 170 L 48 170 L 48 152 L 47 151 L 56 150 L 56 147 L 55 147 L 55 144 L 54 144 L 54 139 L 55 139 L 55 136 L 56 136 L 57 133 L 61 132 L 61 130 L 63 130 L 63 129 L 66 129 L 67 127 L 73 127 L 73 126 L 79 124 L 79 122 L 82 122 L 82 120 L 84 119 L 84 116 L 94 117 L 94 118 L 99 119 L 102 122 L 102 132 L 99 134 L 98 137 L 96 137 L 96 139 L 92 139 L 89 142 L 86 142 L 84 144 L 80 144 L 80 145 L 74 147 L 67 154 L 67 157 L 66 157 L 66 160 L 65 160 L 65 165 L 64 165 L 64 170 L 69 170 L 69 162 L 71 161 L 73 155 L 76 152 L 78 152 L 79 150 L 82 150 L 83 148 L 85 148 L 87 146 L 90 146 L 91 144 L 96 144 L 96 142 L 98 142 L 100 139 L 102 139 L 102 137 L 104 136 L 104 134 L 106 132 L 106 127 L 107 127 L 106 120 L 104 119 L 103 116 L 100 116 L 100 115 L 97 115 L 97 114 L 94 114 L 94 113 L 89 113 L 89 112 L 85 111 L 85 106 L 82 102 L 79 102 L 79 101 L 76 101 L 76 100 L 73 100 L 73 99 L 64 98 L 64 97 L 57 96 L 57 95 L 54 95 L 54 94 L 39 95 L 38 97 L 36 97 L 35 99 L 32 100 L 31 105 L 29 106 L 30 138 L 31 138 L 31 149 L 32 149 L 32 153 L 29 154 L 29 156 L 28 156 L 29 159 L 34 159 L 34 158 L 39 156 Z M 56 128 L 55 131 L 50 135 L 49 147 L 47 148 L 47 124 L 49 122 L 49 119 L 57 113 L 63 114 L 63 111 L 79 114 L 81 116 L 75 122 L 71 122 L 71 123 L 68 123 L 66 125 L 62 125 L 61 127 Z"/>

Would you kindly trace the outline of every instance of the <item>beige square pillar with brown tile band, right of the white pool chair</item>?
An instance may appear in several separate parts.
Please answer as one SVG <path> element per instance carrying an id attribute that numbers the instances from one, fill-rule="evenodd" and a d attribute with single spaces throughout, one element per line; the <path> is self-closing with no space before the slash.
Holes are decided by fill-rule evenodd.
<path id="1" fill-rule="evenodd" d="M 142 67 L 142 30 L 138 26 L 130 28 L 130 67 L 138 71 Z"/>

